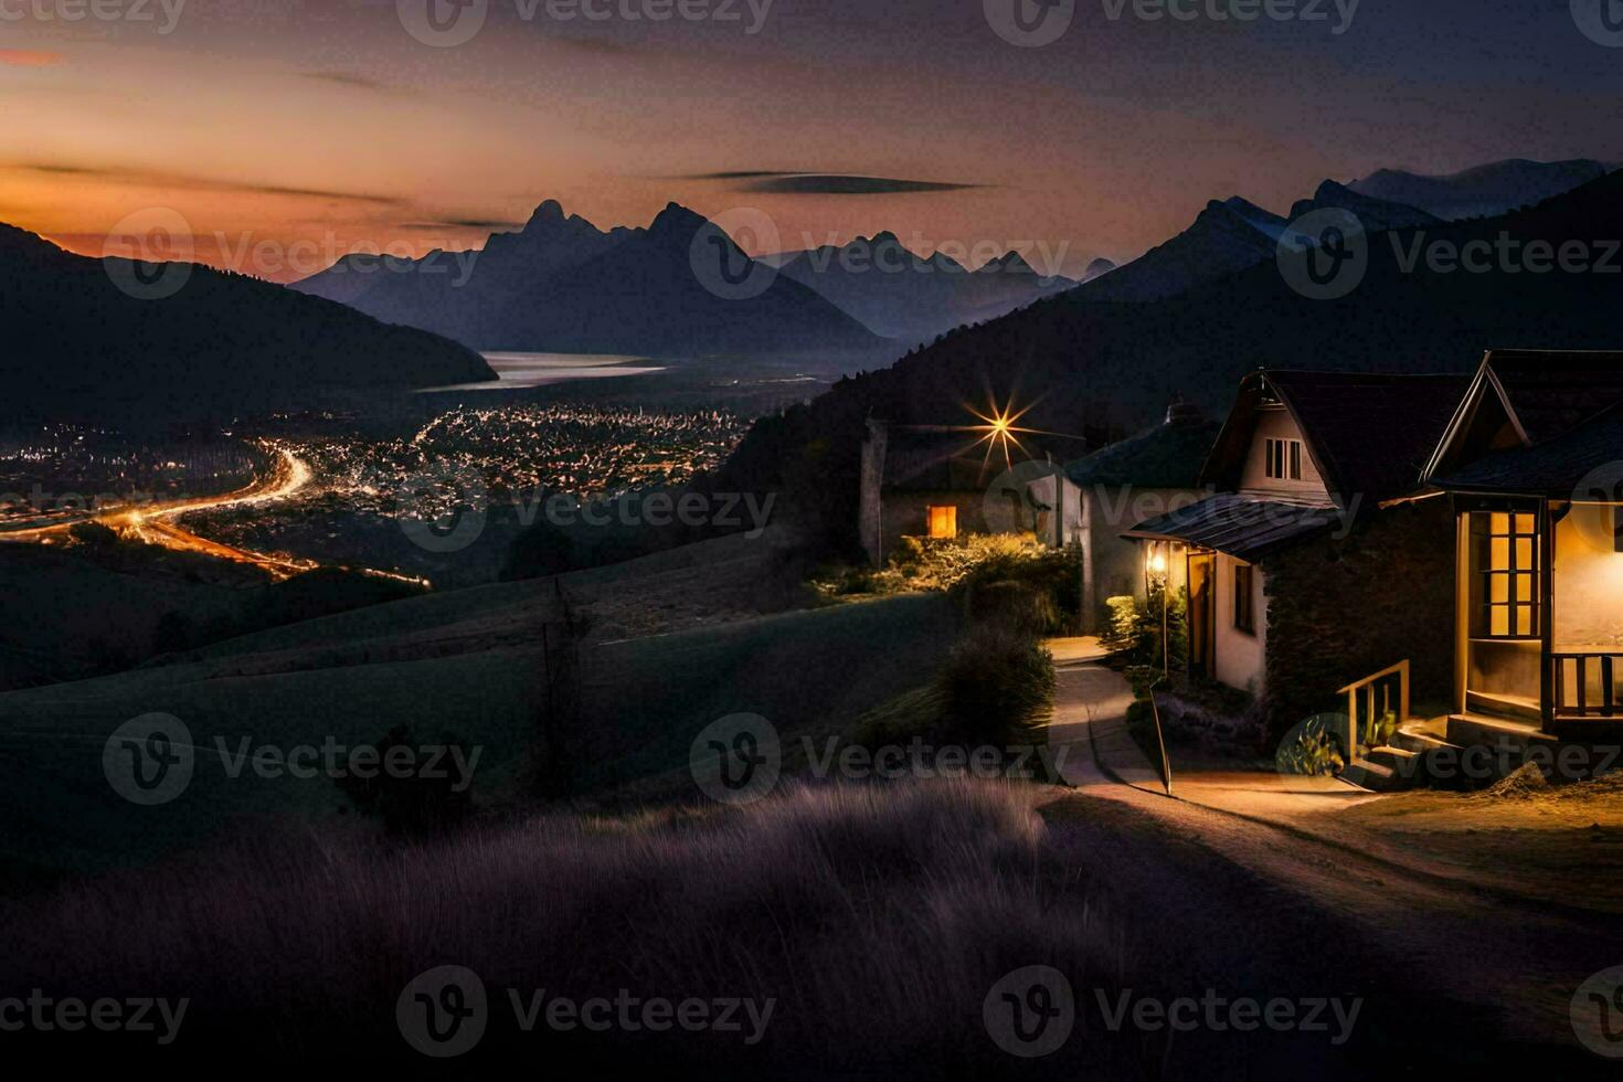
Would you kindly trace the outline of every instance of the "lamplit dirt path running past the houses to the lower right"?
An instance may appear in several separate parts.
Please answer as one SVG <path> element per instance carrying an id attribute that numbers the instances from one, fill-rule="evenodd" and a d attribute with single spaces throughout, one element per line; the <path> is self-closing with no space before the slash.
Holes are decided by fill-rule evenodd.
<path id="1" fill-rule="evenodd" d="M 1126 680 L 1097 663 L 1102 652 L 1096 644 L 1063 639 L 1050 649 L 1057 668 L 1050 738 L 1066 749 L 1061 772 L 1076 790 L 1044 809 L 1050 821 L 1086 824 L 1107 847 L 1120 845 L 1112 835 L 1123 832 L 1195 842 L 1350 928 L 1371 955 L 1412 973 L 1417 991 L 1492 1012 L 1513 1040 L 1571 1045 L 1574 990 L 1597 970 L 1623 964 L 1615 915 L 1506 897 L 1360 850 L 1345 837 L 1316 834 L 1303 822 L 1336 801 L 1380 800 L 1339 782 L 1297 785 L 1302 779 L 1263 772 L 1178 772 L 1173 753 L 1175 795 L 1167 798 L 1126 733 Z M 1144 860 L 1173 878 L 1165 882 L 1134 868 L 1139 889 L 1191 889 L 1175 881 L 1177 848 L 1134 850 L 1134 865 Z M 1152 897 L 1144 900 L 1154 904 Z M 1237 934 L 1259 917 L 1253 907 L 1266 908 L 1263 902 L 1212 900 L 1233 915 Z M 1311 951 L 1311 944 L 1298 946 Z"/>

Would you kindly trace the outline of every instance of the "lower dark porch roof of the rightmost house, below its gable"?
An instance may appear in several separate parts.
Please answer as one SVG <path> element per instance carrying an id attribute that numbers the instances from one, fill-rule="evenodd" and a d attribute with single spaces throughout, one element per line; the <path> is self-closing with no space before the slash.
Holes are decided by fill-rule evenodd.
<path id="1" fill-rule="evenodd" d="M 1617 500 L 1617 492 L 1581 492 L 1589 488 L 1584 482 L 1597 470 L 1605 470 L 1604 488 L 1623 480 L 1623 404 L 1553 440 L 1485 454 L 1435 483 L 1451 492 Z"/>

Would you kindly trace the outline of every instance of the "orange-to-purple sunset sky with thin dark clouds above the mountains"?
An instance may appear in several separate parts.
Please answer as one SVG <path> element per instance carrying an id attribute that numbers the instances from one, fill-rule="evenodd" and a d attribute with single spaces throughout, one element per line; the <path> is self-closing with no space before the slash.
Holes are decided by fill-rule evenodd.
<path id="1" fill-rule="evenodd" d="M 601 227 L 677 200 L 758 208 L 782 248 L 1042 240 L 1074 271 L 1209 198 L 1282 213 L 1383 165 L 1623 157 L 1623 49 L 1568 0 L 1363 0 L 1341 34 L 1334 0 L 1255 23 L 1209 18 L 1233 0 L 1190 21 L 1078 0 L 1044 47 L 1000 37 L 982 0 L 659 23 L 620 11 L 661 0 L 596 2 L 612 18 L 490 0 L 472 41 L 432 47 L 393 0 L 140 0 L 144 21 L 0 0 L 0 221 L 99 253 L 169 208 L 208 261 L 304 242 L 291 266 L 237 256 L 289 279 L 357 245 L 477 247 L 545 198 Z"/>

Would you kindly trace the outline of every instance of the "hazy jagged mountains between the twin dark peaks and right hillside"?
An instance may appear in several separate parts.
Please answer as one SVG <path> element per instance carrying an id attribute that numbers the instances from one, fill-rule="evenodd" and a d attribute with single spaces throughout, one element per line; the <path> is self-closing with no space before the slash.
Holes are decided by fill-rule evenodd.
<path id="1" fill-rule="evenodd" d="M 911 251 L 891 232 L 846 245 L 784 253 L 781 271 L 854 315 L 868 329 L 920 342 L 966 323 L 993 320 L 1076 281 L 1034 269 L 1010 251 L 971 271 L 936 251 Z"/>

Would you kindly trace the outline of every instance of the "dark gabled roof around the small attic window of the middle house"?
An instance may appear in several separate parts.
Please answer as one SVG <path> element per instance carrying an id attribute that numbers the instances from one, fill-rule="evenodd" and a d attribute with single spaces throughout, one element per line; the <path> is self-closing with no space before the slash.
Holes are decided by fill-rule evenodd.
<path id="1" fill-rule="evenodd" d="M 1373 508 L 1419 488 L 1425 459 L 1466 384 L 1453 375 L 1255 371 L 1240 384 L 1201 482 L 1238 485 L 1258 409 L 1274 399 L 1302 430 L 1331 498 L 1350 506 L 1357 496 Z"/>

